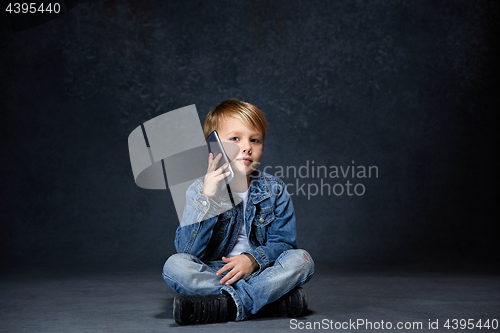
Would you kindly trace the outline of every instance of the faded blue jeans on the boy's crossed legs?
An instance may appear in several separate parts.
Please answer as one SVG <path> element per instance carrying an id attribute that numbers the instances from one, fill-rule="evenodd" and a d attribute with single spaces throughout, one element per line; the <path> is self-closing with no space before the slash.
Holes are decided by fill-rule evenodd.
<path id="1" fill-rule="evenodd" d="M 244 320 L 257 313 L 264 305 L 303 285 L 314 274 L 312 257 L 307 251 L 300 249 L 284 251 L 272 266 L 232 285 L 219 284 L 222 276 L 215 275 L 224 265 L 222 260 L 204 263 L 191 254 L 177 253 L 165 262 L 163 279 L 177 293 L 228 293 L 236 303 L 236 320 Z"/>

